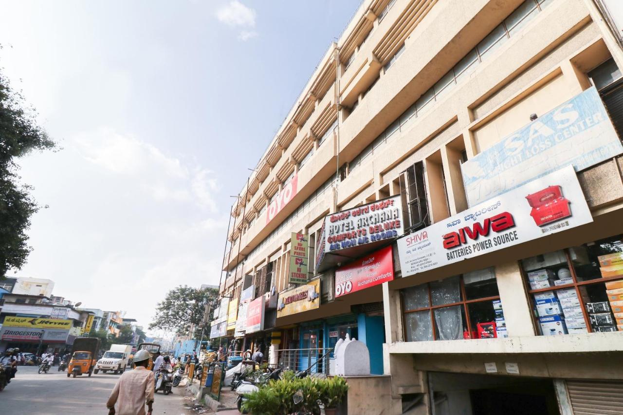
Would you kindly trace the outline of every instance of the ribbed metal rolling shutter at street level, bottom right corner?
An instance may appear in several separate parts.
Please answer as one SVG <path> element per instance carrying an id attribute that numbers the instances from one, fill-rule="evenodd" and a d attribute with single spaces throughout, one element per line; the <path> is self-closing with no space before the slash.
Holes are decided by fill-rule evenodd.
<path id="1" fill-rule="evenodd" d="M 622 381 L 568 380 L 567 390 L 575 415 L 621 415 Z"/>

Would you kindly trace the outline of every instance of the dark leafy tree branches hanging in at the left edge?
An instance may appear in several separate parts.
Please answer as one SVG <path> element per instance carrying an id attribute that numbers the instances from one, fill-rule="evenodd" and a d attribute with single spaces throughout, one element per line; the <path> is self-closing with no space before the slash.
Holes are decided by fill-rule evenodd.
<path id="1" fill-rule="evenodd" d="M 54 141 L 37 124 L 34 109 L 0 72 L 0 279 L 9 269 L 26 264 L 32 250 L 26 231 L 32 214 L 40 209 L 29 193 L 31 186 L 19 183 L 16 160 L 31 151 L 54 148 Z"/>

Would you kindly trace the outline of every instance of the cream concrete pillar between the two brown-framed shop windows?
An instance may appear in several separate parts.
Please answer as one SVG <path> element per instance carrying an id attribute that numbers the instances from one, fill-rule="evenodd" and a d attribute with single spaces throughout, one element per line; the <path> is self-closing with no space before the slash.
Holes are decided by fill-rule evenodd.
<path id="1" fill-rule="evenodd" d="M 509 337 L 534 336 L 532 310 L 518 262 L 507 262 L 495 267 L 495 279 L 500 291 L 506 330 Z"/>

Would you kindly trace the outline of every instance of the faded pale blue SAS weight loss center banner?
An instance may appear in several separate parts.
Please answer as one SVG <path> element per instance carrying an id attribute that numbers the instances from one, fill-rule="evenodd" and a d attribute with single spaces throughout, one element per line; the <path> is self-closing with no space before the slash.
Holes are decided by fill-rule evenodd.
<path id="1" fill-rule="evenodd" d="M 594 87 L 461 165 L 470 207 L 566 165 L 576 171 L 623 153 Z"/>

